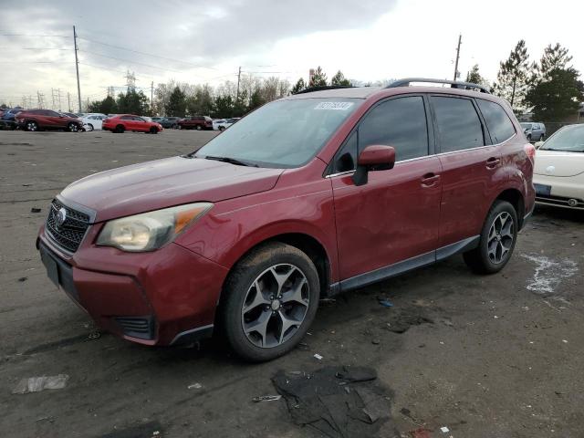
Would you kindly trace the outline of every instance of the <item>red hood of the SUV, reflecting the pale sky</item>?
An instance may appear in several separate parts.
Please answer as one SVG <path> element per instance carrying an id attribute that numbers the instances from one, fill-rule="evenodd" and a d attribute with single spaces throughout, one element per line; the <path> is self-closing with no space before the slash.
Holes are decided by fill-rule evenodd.
<path id="1" fill-rule="evenodd" d="M 94 210 L 94 222 L 101 222 L 183 203 L 216 203 L 265 192 L 276 185 L 282 172 L 172 157 L 87 176 L 68 185 L 60 196 L 66 203 Z"/>

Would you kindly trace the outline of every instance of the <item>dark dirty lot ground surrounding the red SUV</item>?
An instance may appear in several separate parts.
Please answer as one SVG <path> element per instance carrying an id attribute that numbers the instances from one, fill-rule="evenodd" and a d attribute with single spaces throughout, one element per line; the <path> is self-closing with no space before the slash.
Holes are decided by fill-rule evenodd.
<path id="1" fill-rule="evenodd" d="M 213 135 L 0 131 L 0 436 L 317 437 L 284 400 L 252 398 L 276 394 L 277 370 L 327 365 L 377 370 L 391 402 L 379 436 L 584 436 L 584 214 L 538 208 L 494 276 L 456 256 L 323 302 L 305 343 L 269 363 L 242 363 L 216 342 L 146 348 L 96 332 L 35 249 L 52 197 Z M 64 389 L 12 393 L 57 374 L 69 376 Z"/>

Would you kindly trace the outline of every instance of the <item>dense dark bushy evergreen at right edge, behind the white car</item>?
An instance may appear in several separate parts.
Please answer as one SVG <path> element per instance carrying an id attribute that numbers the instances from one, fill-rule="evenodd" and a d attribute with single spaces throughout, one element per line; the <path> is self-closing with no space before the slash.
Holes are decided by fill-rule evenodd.
<path id="1" fill-rule="evenodd" d="M 574 68 L 553 68 L 529 90 L 527 103 L 534 107 L 535 120 L 566 121 L 576 114 L 584 99 L 584 84 Z"/>

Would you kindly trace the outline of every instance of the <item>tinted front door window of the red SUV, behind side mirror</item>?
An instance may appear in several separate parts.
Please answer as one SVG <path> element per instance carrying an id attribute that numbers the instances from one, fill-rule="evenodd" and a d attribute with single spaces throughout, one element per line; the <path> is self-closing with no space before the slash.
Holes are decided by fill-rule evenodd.
<path id="1" fill-rule="evenodd" d="M 395 148 L 396 161 L 428 154 L 428 130 L 423 99 L 391 99 L 370 111 L 359 127 L 359 151 L 372 144 Z"/>

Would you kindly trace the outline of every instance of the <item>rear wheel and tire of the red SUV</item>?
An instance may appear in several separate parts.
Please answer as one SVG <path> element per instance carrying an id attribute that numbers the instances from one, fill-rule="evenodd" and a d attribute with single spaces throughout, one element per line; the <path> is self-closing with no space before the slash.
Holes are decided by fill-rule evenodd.
<path id="1" fill-rule="evenodd" d="M 506 266 L 517 241 L 515 207 L 496 200 L 487 214 L 479 245 L 464 253 L 464 262 L 478 274 L 495 274 Z"/>

